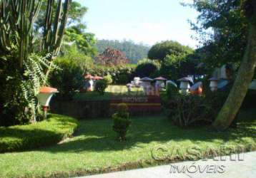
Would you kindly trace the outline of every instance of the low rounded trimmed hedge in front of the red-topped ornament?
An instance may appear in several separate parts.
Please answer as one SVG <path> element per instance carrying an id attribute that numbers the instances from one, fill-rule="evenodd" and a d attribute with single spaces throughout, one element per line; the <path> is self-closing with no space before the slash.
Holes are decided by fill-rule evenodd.
<path id="1" fill-rule="evenodd" d="M 63 115 L 51 115 L 49 119 L 31 125 L 0 127 L 0 152 L 54 145 L 70 137 L 77 127 L 77 120 Z"/>

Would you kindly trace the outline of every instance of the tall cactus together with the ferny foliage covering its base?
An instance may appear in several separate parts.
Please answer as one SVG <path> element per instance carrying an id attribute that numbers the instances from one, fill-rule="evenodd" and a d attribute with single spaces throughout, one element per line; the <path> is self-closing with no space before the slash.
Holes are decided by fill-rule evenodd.
<path id="1" fill-rule="evenodd" d="M 50 61 L 61 46 L 70 2 L 58 1 L 53 16 L 54 1 L 47 1 L 42 34 L 34 23 L 41 1 L 0 1 L 1 125 L 26 124 L 40 119 L 36 95 L 42 85 L 47 85 L 53 69 Z M 37 51 L 46 58 L 33 54 L 38 47 L 34 47 L 36 41 L 41 41 Z"/>

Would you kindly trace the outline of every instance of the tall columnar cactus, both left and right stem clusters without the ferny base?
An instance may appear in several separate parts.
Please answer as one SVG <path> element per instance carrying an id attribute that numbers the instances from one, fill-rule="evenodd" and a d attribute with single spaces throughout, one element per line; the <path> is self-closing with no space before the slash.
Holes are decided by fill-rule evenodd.
<path id="1" fill-rule="evenodd" d="M 55 1 L 57 9 L 54 13 Z M 41 9 L 41 2 L 42 0 L 0 0 L 0 56 L 17 51 L 20 68 L 31 52 L 34 21 Z M 42 40 L 45 53 L 51 53 L 52 56 L 59 53 L 71 2 L 72 0 L 47 0 Z"/>

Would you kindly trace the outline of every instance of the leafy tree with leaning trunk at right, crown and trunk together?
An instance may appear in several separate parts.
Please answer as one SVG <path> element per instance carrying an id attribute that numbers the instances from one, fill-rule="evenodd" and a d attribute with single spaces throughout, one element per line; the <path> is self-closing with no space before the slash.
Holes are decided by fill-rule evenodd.
<path id="1" fill-rule="evenodd" d="M 194 27 L 205 44 L 207 65 L 240 64 L 230 95 L 214 122 L 216 129 L 225 130 L 237 115 L 255 72 L 256 1 L 195 0 L 192 6 L 200 12 L 199 24 Z M 210 36 L 206 35 L 209 29 L 213 31 Z"/>

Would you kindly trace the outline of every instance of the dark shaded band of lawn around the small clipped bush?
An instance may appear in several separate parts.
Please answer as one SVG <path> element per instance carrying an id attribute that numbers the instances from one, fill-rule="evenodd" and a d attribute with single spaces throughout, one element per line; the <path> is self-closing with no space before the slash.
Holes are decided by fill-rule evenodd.
<path id="1" fill-rule="evenodd" d="M 248 122 L 252 124 L 252 122 Z M 133 147 L 145 147 L 143 144 L 157 142 L 158 144 L 174 141 L 182 143 L 189 141 L 187 146 L 193 143 L 195 145 L 205 142 L 219 140 L 227 142 L 230 140 L 243 140 L 244 137 L 255 137 L 255 127 L 248 128 L 240 125 L 238 129 L 230 129 L 226 132 L 215 132 L 210 127 L 196 127 L 190 129 L 182 129 L 172 125 L 167 118 L 149 117 L 134 118 L 132 126 L 127 134 L 126 142 L 116 140 L 116 135 L 112 131 L 112 120 L 93 120 L 82 121 L 78 132 L 71 140 L 61 143 L 55 147 L 51 147 L 44 151 L 48 152 L 84 152 L 84 151 L 114 151 L 131 149 Z M 184 145 L 186 146 L 186 145 Z"/>

